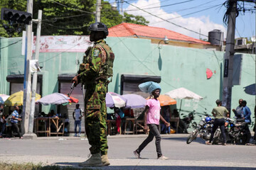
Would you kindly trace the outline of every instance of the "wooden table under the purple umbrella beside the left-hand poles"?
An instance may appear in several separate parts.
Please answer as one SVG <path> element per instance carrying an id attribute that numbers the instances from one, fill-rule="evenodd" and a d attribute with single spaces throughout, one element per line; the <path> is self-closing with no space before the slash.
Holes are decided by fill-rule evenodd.
<path id="1" fill-rule="evenodd" d="M 44 124 L 44 130 L 39 130 L 39 122 L 43 122 Z M 50 130 L 50 126 L 53 125 L 53 127 L 56 129 L 55 132 L 52 132 Z M 62 131 L 60 132 L 60 129 L 62 128 Z M 65 128 L 65 118 L 35 118 L 35 132 L 36 135 L 39 133 L 46 133 L 46 136 L 49 137 L 52 134 L 55 135 L 64 135 L 64 128 Z"/>

